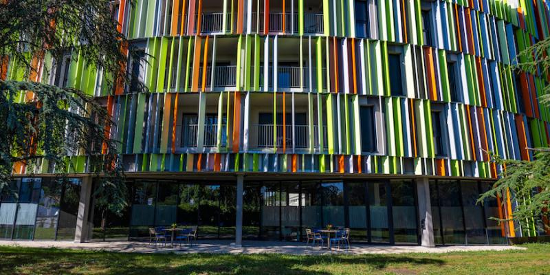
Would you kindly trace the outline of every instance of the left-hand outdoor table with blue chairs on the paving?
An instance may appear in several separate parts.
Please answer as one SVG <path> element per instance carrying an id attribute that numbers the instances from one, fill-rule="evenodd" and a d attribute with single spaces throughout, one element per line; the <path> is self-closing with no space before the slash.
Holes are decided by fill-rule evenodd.
<path id="1" fill-rule="evenodd" d="M 157 227 L 149 228 L 149 243 L 148 246 L 154 243 L 155 247 L 162 244 L 166 247 L 166 244 L 170 242 L 170 247 L 174 246 L 174 243 L 181 245 L 183 243 L 188 243 L 188 245 L 197 244 L 197 226 L 192 226 L 191 228 L 178 228 L 173 226 L 171 228 Z"/>

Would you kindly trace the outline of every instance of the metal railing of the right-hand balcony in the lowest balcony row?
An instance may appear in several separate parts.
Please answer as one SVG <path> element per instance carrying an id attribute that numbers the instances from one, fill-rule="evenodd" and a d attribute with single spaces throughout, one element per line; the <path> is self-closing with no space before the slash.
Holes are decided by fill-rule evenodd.
<path id="1" fill-rule="evenodd" d="M 277 124 L 256 124 L 258 129 L 258 148 L 271 148 L 274 146 L 283 147 L 283 142 L 287 147 L 292 147 L 292 125 L 285 125 L 286 133 L 283 138 L 283 125 Z M 276 129 L 276 137 L 274 130 Z M 309 126 L 295 125 L 294 126 L 294 147 L 308 148 L 309 147 Z M 327 147 L 327 126 L 323 126 L 324 144 Z M 275 140 L 274 140 L 275 139 Z M 319 147 L 319 132 L 318 126 L 314 125 L 314 148 Z"/>

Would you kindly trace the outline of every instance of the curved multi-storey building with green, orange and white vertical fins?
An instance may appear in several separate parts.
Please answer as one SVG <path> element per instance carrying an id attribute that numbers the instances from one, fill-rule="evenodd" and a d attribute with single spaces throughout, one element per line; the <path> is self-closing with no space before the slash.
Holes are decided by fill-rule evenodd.
<path id="1" fill-rule="evenodd" d="M 145 57 L 129 58 L 132 83 L 104 85 L 78 52 L 41 79 L 104 102 L 129 206 L 95 209 L 85 156 L 63 186 L 54 164 L 32 179 L 21 166 L 0 237 L 140 239 L 172 223 L 237 244 L 329 223 L 368 243 L 545 234 L 488 219 L 510 217 L 513 190 L 476 199 L 502 169 L 489 152 L 529 160 L 549 144 L 548 76 L 515 67 L 549 15 L 542 0 L 114 1 Z"/>

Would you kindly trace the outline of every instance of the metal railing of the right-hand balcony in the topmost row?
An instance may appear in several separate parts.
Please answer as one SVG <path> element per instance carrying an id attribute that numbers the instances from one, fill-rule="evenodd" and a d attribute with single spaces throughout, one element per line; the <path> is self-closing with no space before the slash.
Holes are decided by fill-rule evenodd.
<path id="1" fill-rule="evenodd" d="M 284 16 L 283 12 L 270 12 L 269 32 L 283 32 L 283 17 L 285 18 L 284 32 L 298 32 L 298 14 L 291 14 L 290 12 L 285 12 Z M 322 18 L 322 13 L 304 14 L 304 32 L 308 34 L 322 34 L 325 32 Z M 294 24 L 292 19 L 294 19 Z M 252 31 L 259 29 L 259 32 L 263 32 L 263 13 L 260 13 L 259 22 L 256 22 L 256 20 L 256 13 L 252 13 Z"/>

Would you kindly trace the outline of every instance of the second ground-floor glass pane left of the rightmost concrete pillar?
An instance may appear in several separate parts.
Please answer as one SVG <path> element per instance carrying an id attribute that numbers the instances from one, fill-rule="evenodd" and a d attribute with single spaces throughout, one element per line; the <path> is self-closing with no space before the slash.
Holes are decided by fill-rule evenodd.
<path id="1" fill-rule="evenodd" d="M 373 182 L 369 187 L 369 210 L 371 214 L 371 241 L 389 243 L 388 192 L 386 183 Z"/>

